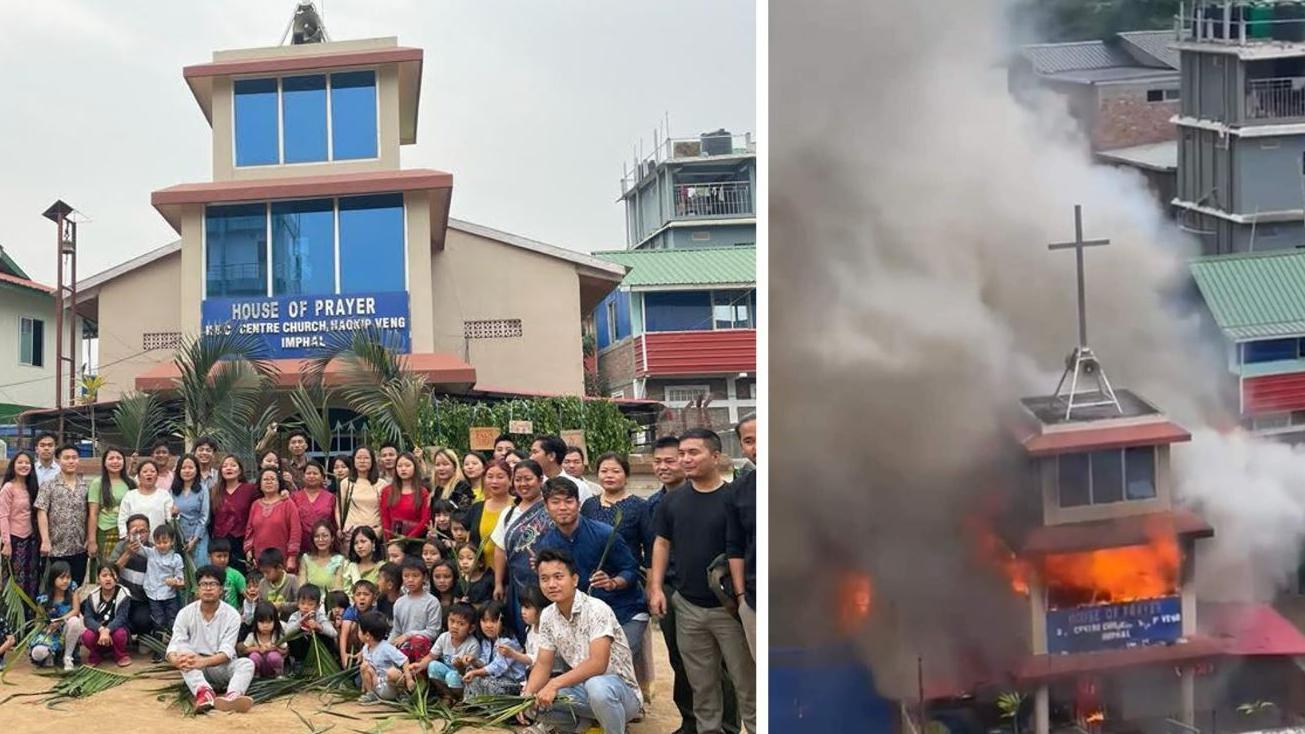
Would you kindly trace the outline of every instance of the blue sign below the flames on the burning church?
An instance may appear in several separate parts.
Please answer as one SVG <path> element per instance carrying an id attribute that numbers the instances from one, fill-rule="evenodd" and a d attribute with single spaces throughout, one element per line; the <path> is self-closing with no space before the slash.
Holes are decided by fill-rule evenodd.
<path id="1" fill-rule="evenodd" d="M 1181 636 L 1181 597 L 1081 606 L 1047 613 L 1047 652 L 1052 654 L 1174 643 Z"/>

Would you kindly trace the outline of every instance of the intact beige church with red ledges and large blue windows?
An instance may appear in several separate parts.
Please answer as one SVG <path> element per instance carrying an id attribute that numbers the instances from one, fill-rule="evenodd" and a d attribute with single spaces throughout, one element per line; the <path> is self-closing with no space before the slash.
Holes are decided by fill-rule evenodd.
<path id="1" fill-rule="evenodd" d="M 399 167 L 422 68 L 420 48 L 380 38 L 184 69 L 213 128 L 213 182 L 155 191 L 180 239 L 78 283 L 108 328 L 100 400 L 168 388 L 171 350 L 201 329 L 260 334 L 287 387 L 333 334 L 368 325 L 445 392 L 583 393 L 582 315 L 625 269 L 450 219 L 453 176 Z"/>

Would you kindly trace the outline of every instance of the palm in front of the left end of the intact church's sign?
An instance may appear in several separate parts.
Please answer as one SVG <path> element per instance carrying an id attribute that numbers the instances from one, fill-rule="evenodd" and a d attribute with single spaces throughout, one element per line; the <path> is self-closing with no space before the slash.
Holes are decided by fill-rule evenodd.
<path id="1" fill-rule="evenodd" d="M 275 421 L 269 406 L 274 367 L 253 334 L 188 337 L 172 358 L 181 415 L 172 423 L 189 451 L 200 436 L 215 436 L 224 449 L 245 455 L 247 432 Z"/>

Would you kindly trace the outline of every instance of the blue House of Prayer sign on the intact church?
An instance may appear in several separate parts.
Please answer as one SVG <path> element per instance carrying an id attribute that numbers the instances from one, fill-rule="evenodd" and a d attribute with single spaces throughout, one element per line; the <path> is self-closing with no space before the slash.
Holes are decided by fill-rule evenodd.
<path id="1" fill-rule="evenodd" d="M 256 334 L 269 359 L 315 357 L 338 334 L 369 328 L 394 340 L 399 351 L 411 347 L 407 291 L 209 298 L 200 320 L 206 334 Z"/>

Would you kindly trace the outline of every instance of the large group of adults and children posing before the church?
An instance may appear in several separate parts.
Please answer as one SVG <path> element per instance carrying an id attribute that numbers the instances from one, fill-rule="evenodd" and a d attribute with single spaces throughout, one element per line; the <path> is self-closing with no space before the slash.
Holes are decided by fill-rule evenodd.
<path id="1" fill-rule="evenodd" d="M 756 419 L 737 432 L 756 462 Z M 284 445 L 252 474 L 207 438 L 175 461 L 167 441 L 108 449 L 87 481 L 74 447 L 38 436 L 0 482 L 0 554 L 50 619 L 31 661 L 129 665 L 154 633 L 197 708 L 248 710 L 254 677 L 325 653 L 359 665 L 363 703 L 424 677 L 454 700 L 534 696 L 527 731 L 625 731 L 660 618 L 679 731 L 756 730 L 756 473 L 726 482 L 713 431 L 656 441 L 649 499 L 624 456 L 599 456 L 594 483 L 553 435 L 325 465 L 303 432 Z"/>

